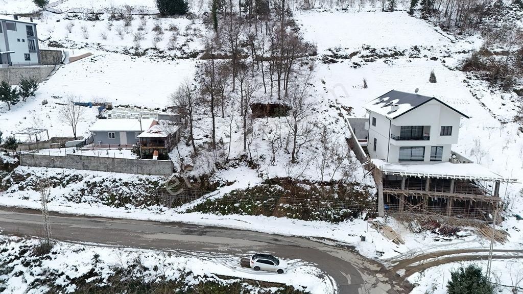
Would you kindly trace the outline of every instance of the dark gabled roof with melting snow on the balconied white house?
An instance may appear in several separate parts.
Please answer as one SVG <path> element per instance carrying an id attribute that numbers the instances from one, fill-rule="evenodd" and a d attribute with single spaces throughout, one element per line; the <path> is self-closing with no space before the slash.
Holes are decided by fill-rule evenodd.
<path id="1" fill-rule="evenodd" d="M 460 115 L 469 118 L 467 115 L 462 114 L 460 111 L 450 107 L 443 101 L 429 96 L 423 96 L 413 93 L 406 93 L 401 91 L 392 90 L 376 99 L 370 100 L 368 103 L 363 105 L 363 108 L 377 112 L 385 117 L 395 119 L 404 115 L 406 112 L 427 103 L 430 100 L 436 100 L 439 103 L 447 106 L 448 108 L 458 112 Z M 391 106 L 397 105 L 397 109 L 392 111 Z"/>

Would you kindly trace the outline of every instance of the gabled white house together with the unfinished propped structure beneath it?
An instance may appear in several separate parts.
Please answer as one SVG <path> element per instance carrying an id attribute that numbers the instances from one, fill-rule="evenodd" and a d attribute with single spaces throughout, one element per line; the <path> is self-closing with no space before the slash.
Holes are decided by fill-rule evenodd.
<path id="1" fill-rule="evenodd" d="M 347 120 L 349 144 L 376 181 L 380 216 L 419 213 L 492 221 L 502 201 L 501 184 L 516 179 L 451 150 L 458 140 L 460 117 L 466 115 L 434 97 L 398 91 L 371 100 L 366 109 L 365 130 L 356 126 L 361 119 Z M 420 135 L 414 137 L 392 132 L 394 127 L 399 133 L 412 133 L 418 126 Z M 404 154 L 414 148 L 419 156 Z"/>

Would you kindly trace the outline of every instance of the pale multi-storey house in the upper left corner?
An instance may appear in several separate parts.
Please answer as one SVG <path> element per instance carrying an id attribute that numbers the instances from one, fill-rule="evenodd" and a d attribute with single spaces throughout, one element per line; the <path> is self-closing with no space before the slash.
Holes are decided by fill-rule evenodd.
<path id="1" fill-rule="evenodd" d="M 0 16 L 0 67 L 5 64 L 38 65 L 40 50 L 36 24 Z"/>

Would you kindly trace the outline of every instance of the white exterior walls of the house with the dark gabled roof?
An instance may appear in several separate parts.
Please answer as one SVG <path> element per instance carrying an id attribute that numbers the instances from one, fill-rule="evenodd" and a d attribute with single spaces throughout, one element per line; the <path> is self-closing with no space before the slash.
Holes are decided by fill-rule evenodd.
<path id="1" fill-rule="evenodd" d="M 378 158 L 388 162 L 399 161 L 402 146 L 423 146 L 425 148 L 424 161 L 430 162 L 432 146 L 442 146 L 441 161 L 448 161 L 451 156 L 452 144 L 458 142 L 461 115 L 449 107 L 430 100 L 404 115 L 389 119 L 373 111 L 369 113 L 369 141 L 368 150 L 371 158 Z M 376 117 L 376 126 L 372 126 L 372 118 Z M 429 140 L 393 140 L 390 134 L 400 135 L 401 126 L 425 126 L 424 134 L 429 134 Z M 430 128 L 428 127 L 430 126 Z M 441 127 L 452 127 L 450 135 L 441 135 Z M 377 148 L 374 151 L 374 138 L 377 139 Z"/>

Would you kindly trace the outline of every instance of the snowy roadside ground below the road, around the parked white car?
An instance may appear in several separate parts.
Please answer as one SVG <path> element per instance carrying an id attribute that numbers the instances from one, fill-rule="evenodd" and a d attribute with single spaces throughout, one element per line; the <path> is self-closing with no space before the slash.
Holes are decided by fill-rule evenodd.
<path id="1" fill-rule="evenodd" d="M 77 290 L 75 280 L 88 273 L 91 274 L 87 281 L 95 280 L 98 285 L 103 286 L 118 268 L 131 268 L 135 275 L 132 278 L 146 282 L 158 281 L 160 278 L 167 281 L 177 280 L 188 275 L 188 282 L 198 284 L 209 279 L 220 280 L 217 275 L 222 275 L 277 282 L 298 290 L 306 289 L 311 294 L 334 292 L 327 275 L 319 268 L 298 259 L 288 261 L 289 268 L 285 274 L 260 275 L 250 268 L 240 266 L 240 259 L 246 257 L 240 254 L 158 252 L 103 247 L 103 244 L 87 246 L 56 242 L 49 258 L 43 258 L 40 263 L 28 262 L 33 256 L 32 250 L 27 248 L 38 246 L 39 242 L 35 239 L 0 236 L 0 259 L 6 265 L 6 269 L 13 267 L 10 272 L 0 275 L 0 281 L 4 280 L 4 293 L 45 293 L 49 287 L 35 288 L 35 285 L 38 285 L 38 279 L 48 280 L 51 276 L 56 278 L 56 285 L 66 289 L 65 292 L 74 292 Z M 143 272 L 132 269 L 139 265 Z"/>

